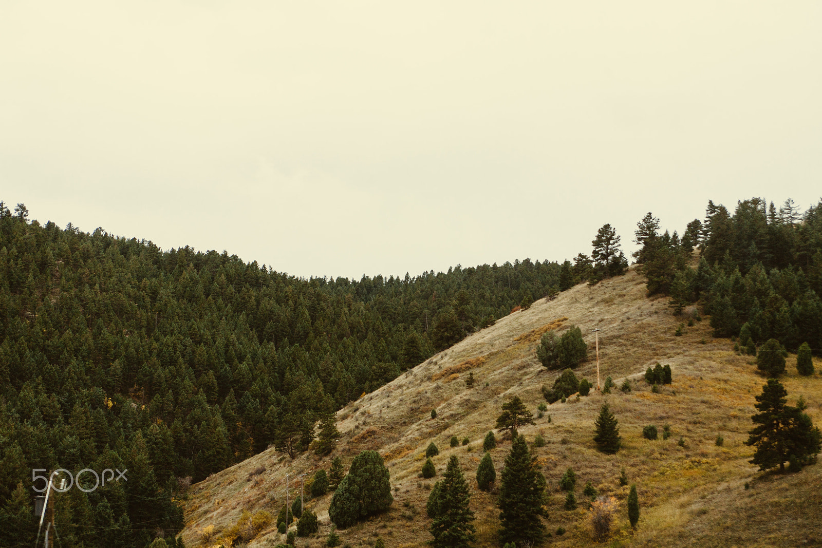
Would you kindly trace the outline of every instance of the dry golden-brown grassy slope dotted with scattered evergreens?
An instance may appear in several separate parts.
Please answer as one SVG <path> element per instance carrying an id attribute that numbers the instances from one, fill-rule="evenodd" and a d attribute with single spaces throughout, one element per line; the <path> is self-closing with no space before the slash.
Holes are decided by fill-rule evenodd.
<path id="1" fill-rule="evenodd" d="M 557 375 L 537 361 L 536 340 L 515 339 L 565 316 L 564 326 L 575 324 L 583 329 L 592 357 L 593 336 L 587 334 L 595 327 L 602 329 L 603 381 L 611 375 L 621 385 L 628 378 L 634 389 L 629 394 L 617 389 L 610 395 L 592 391 L 579 402 L 570 398 L 567 403 L 554 403 L 536 426 L 522 429 L 529 440 L 540 433 L 548 442 L 534 449 L 550 494 L 547 530 L 560 526 L 567 530 L 564 536 L 553 536 L 552 544 L 592 544 L 585 525 L 585 504 L 571 512 L 562 509 L 564 494 L 556 485 L 567 467 L 573 467 L 578 476 L 578 501 L 584 500 L 586 481 L 619 500 L 616 532 L 603 546 L 797 546 L 809 536 L 822 538 L 822 465 L 806 467 L 795 475 L 774 476 L 756 472 L 747 463 L 752 449 L 743 442 L 752 426 L 754 396 L 764 380 L 755 374 L 750 357 L 732 352 L 730 341 L 711 338 L 707 321 L 686 327 L 683 336 L 675 337 L 682 319 L 672 315 L 666 301 L 644 297 L 643 280 L 634 270 L 593 288 L 583 284 L 561 293 L 555 301 L 540 301 L 528 311 L 499 320 L 342 409 L 338 426 L 344 436 L 337 454 L 348 464 L 360 450 L 379 450 L 386 456 L 395 487 L 391 509 L 340 532 L 342 541 L 371 545 L 379 535 L 386 546 L 425 545 L 430 539 L 425 502 L 436 481 L 418 477 L 427 444 L 434 440 L 440 448 L 435 458 L 438 474 L 450 454 L 457 454 L 475 486 L 483 436 L 493 426 L 501 403 L 510 394 L 520 395 L 536 415 L 543 401 L 540 387 L 551 385 Z M 432 375 L 447 372 L 446 367 L 481 356 L 486 359 L 472 370 L 473 389 L 464 384 L 467 371 L 456 380 L 450 380 L 453 375 L 431 380 Z M 788 360 L 784 384 L 789 401 L 804 394 L 810 416 L 822 422 L 820 376 L 799 378 L 796 358 Z M 641 376 L 657 361 L 672 366 L 674 382 L 661 394 L 652 394 Z M 576 373 L 595 381 L 595 361 L 584 363 Z M 623 449 L 615 456 L 593 449 L 593 419 L 605 401 L 611 404 L 621 428 Z M 430 418 L 432 408 L 437 410 L 436 420 Z M 655 424 L 661 432 L 666 423 L 672 427 L 671 439 L 642 438 L 643 426 Z M 723 447 L 714 444 L 718 433 L 725 439 Z M 450 449 L 451 435 L 460 440 L 468 437 L 471 443 Z M 677 444 L 680 436 L 685 447 Z M 498 468 L 509 447 L 501 443 L 492 451 Z M 329 464 L 330 458 L 313 454 L 291 461 L 269 449 L 193 486 L 187 502 L 187 546 L 201 545 L 204 527 L 213 525 L 216 532 L 229 527 L 243 509 L 275 513 L 284 503 L 285 472 L 292 477 L 305 472 L 310 477 Z M 261 465 L 267 471 L 257 481 L 247 481 L 248 472 Z M 642 514 L 636 532 L 627 523 L 627 487 L 617 481 L 623 467 L 640 494 Z M 744 489 L 746 481 L 750 490 Z M 326 495 L 307 503 L 321 518 L 321 533 L 301 539 L 300 546 L 324 546 L 330 530 L 329 502 L 330 495 Z M 477 545 L 496 545 L 498 510 L 493 491 L 476 490 L 472 508 L 477 518 Z M 282 536 L 270 527 L 249 546 L 274 546 L 279 541 Z"/>

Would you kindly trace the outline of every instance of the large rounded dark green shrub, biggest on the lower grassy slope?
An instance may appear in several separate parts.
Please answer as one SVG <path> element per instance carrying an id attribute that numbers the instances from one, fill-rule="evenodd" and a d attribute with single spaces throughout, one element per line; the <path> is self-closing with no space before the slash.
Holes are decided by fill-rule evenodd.
<path id="1" fill-rule="evenodd" d="M 328 515 L 337 527 L 349 527 L 358 519 L 388 509 L 393 501 L 390 474 L 382 457 L 376 451 L 363 451 L 339 482 Z"/>

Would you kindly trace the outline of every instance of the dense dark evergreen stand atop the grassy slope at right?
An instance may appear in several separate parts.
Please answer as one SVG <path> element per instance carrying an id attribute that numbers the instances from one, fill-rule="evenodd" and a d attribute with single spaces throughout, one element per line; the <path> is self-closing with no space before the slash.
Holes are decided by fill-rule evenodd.
<path id="1" fill-rule="evenodd" d="M 750 354 L 772 338 L 792 352 L 802 343 L 822 352 L 822 201 L 801 213 L 792 200 L 777 209 L 752 198 L 733 214 L 709 201 L 682 237 L 658 229 L 649 213 L 635 232 L 649 295 L 670 295 L 677 311 L 701 302 L 714 335 L 738 336 Z"/>

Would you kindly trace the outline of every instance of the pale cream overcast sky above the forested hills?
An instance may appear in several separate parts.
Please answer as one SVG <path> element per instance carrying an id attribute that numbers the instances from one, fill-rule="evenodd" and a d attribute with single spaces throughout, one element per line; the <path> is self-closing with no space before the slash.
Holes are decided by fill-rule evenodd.
<path id="1" fill-rule="evenodd" d="M 822 197 L 822 2 L 0 2 L 0 200 L 297 276 Z"/>

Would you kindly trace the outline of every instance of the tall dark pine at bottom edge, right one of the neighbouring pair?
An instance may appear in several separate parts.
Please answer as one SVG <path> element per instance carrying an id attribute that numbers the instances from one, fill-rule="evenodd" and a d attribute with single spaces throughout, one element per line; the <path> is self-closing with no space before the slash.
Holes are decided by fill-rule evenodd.
<path id="1" fill-rule="evenodd" d="M 545 477 L 531 461 L 523 436 L 515 437 L 502 469 L 500 495 L 500 541 L 538 543 L 545 536 L 540 517 L 547 518 L 544 504 Z"/>

